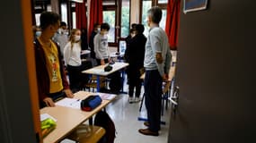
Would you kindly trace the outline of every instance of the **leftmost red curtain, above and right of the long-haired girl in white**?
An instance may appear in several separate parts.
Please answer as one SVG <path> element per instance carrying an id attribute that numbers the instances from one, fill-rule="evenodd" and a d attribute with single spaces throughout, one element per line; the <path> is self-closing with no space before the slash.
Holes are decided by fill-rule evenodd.
<path id="1" fill-rule="evenodd" d="M 76 29 L 87 29 L 85 3 L 75 3 Z"/>

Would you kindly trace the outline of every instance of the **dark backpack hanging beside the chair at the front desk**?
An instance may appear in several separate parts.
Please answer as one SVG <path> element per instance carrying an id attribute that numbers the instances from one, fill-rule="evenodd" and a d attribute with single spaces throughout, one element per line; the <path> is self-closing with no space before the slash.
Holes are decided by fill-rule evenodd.
<path id="1" fill-rule="evenodd" d="M 114 143 L 116 138 L 116 128 L 109 114 L 104 111 L 97 113 L 94 118 L 94 125 L 101 126 L 106 130 L 106 133 L 98 143 Z"/>

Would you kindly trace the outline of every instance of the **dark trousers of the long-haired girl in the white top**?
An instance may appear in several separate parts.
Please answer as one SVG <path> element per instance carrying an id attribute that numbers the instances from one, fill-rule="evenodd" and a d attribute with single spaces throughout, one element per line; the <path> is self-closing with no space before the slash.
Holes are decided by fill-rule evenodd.
<path id="1" fill-rule="evenodd" d="M 81 66 L 67 65 L 67 72 L 70 88 L 74 91 L 78 91 L 81 88 L 82 83 Z"/>

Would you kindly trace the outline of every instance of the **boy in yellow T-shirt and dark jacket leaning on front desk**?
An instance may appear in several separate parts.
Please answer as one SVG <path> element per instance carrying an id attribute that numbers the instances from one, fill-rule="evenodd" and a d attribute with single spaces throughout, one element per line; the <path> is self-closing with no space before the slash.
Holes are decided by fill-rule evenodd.
<path id="1" fill-rule="evenodd" d="M 59 28 L 57 13 L 43 12 L 40 15 L 39 38 L 34 41 L 36 74 L 40 107 L 55 106 L 58 97 L 74 97 L 66 80 L 60 48 L 51 38 Z"/>

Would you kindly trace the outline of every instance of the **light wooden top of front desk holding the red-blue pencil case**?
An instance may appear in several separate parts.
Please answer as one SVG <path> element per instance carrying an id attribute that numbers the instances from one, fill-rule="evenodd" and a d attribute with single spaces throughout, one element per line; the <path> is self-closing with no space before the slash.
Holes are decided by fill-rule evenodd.
<path id="1" fill-rule="evenodd" d="M 77 99 L 84 99 L 90 95 L 95 95 L 97 93 L 90 93 L 85 91 L 79 91 L 75 93 L 75 97 Z M 57 119 L 57 126 L 56 129 L 49 133 L 48 136 L 46 136 L 43 139 L 44 143 L 54 143 L 58 142 L 66 135 L 71 132 L 72 130 L 75 130 L 75 128 L 88 120 L 90 117 L 93 116 L 93 114 L 96 114 L 102 108 L 104 108 L 106 105 L 110 104 L 110 102 L 114 100 L 102 100 L 102 104 L 93 109 L 91 112 L 84 112 L 80 109 L 74 109 L 69 108 L 65 106 L 59 106 L 56 105 L 55 107 L 44 107 L 40 109 L 40 114 L 49 114 L 50 116 Z"/>

